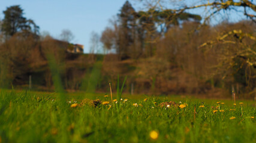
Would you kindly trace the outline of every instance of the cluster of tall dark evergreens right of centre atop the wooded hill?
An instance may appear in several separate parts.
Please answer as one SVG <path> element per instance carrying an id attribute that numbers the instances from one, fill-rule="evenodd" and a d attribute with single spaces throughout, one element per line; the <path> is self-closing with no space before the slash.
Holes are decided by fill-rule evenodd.
<path id="1" fill-rule="evenodd" d="M 127 1 L 101 35 L 101 42 L 106 49 L 115 49 L 121 60 L 128 58 L 146 58 L 155 55 L 155 41 L 163 38 L 171 27 L 179 26 L 185 21 L 200 23 L 200 15 L 181 13 L 173 10 L 136 12 Z"/>

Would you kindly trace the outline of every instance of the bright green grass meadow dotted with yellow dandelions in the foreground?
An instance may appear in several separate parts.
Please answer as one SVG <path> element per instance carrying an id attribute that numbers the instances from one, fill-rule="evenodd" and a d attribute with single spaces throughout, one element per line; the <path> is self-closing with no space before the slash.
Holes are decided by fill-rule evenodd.
<path id="1" fill-rule="evenodd" d="M 62 93 L 63 94 L 63 93 Z M 104 94 L 66 94 L 67 101 L 83 98 L 111 101 Z M 124 98 L 128 101 L 124 102 Z M 1 91 L 0 136 L 2 142 L 256 142 L 254 101 L 243 102 L 236 111 L 231 100 L 220 100 L 221 110 L 213 114 L 218 100 L 195 98 L 147 97 L 123 95 L 120 110 L 117 104 L 85 105 L 71 108 L 58 95 L 44 92 Z M 113 98 L 113 99 L 116 99 Z M 164 101 L 188 104 L 185 108 L 161 108 Z M 154 104 L 153 102 L 156 102 Z M 203 102 L 203 103 L 202 103 Z M 138 107 L 132 104 L 137 103 Z M 204 104 L 204 108 L 199 108 Z M 153 108 L 152 108 L 153 107 Z M 196 107 L 194 119 L 194 107 Z M 230 120 L 230 117 L 236 117 Z M 159 136 L 153 140 L 150 132 Z"/>

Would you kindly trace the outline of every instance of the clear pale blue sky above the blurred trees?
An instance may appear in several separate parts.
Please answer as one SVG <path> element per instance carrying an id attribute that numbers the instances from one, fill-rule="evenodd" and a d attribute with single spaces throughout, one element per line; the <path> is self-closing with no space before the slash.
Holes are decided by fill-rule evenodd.
<path id="1" fill-rule="evenodd" d="M 109 24 L 109 19 L 119 13 L 126 0 L 1 0 L 0 18 L 4 18 L 2 11 L 11 5 L 20 5 L 24 16 L 31 18 L 40 26 L 40 32 L 47 31 L 54 38 L 58 38 L 63 29 L 69 29 L 75 36 L 73 43 L 85 45 L 85 52 L 89 52 L 91 32 L 99 35 Z M 130 0 L 135 10 L 140 10 L 135 0 Z M 198 1 L 183 1 L 188 5 L 198 4 Z M 174 3 L 168 3 L 174 5 Z M 168 6 L 167 6 L 168 7 Z M 173 6 L 171 6 L 173 7 Z M 190 13 L 203 14 L 204 9 L 190 10 Z M 222 18 L 239 21 L 243 15 L 222 13 L 221 17 L 213 18 L 212 23 L 218 23 Z M 222 19 L 223 20 L 223 19 Z"/>

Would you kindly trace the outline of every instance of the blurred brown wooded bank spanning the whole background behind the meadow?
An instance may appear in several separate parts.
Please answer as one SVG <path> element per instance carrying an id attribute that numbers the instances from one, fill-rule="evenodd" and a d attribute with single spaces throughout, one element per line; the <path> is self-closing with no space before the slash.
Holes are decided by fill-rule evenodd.
<path id="1" fill-rule="evenodd" d="M 67 90 L 108 92 L 112 83 L 115 91 L 119 74 L 121 79 L 128 76 L 128 93 L 230 97 L 235 91 L 254 98 L 254 21 L 210 26 L 200 22 L 200 15 L 153 8 L 135 11 L 128 1 L 117 15 L 101 35 L 104 48 L 115 51 L 105 55 L 68 53 L 68 42 L 43 38 L 33 27 L 18 28 L 13 35 L 2 28 L 1 86 L 28 87 L 31 76 L 32 89 L 52 90 L 46 56 L 50 52 Z"/>

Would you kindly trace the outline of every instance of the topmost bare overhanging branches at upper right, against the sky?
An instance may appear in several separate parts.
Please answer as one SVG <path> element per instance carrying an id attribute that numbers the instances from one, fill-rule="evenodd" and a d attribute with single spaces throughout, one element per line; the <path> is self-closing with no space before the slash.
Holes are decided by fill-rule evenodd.
<path id="1" fill-rule="evenodd" d="M 147 5 L 147 8 L 153 10 L 165 11 L 172 7 L 175 15 L 180 15 L 188 10 L 204 9 L 204 13 L 201 13 L 206 14 L 203 23 L 206 23 L 214 15 L 221 14 L 223 11 L 231 11 L 232 14 L 242 13 L 245 17 L 256 22 L 256 5 L 253 1 L 249 0 L 201 0 L 193 2 L 180 0 L 171 0 L 170 2 L 166 0 L 145 0 L 142 2 L 144 5 Z M 191 5 L 188 6 L 188 4 Z"/>

